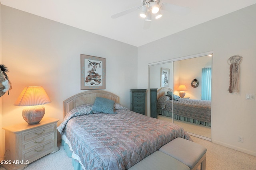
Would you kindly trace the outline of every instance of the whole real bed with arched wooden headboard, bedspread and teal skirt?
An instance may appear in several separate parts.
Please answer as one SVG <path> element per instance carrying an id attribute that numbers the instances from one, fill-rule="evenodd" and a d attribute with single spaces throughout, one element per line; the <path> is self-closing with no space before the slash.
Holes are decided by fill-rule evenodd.
<path id="1" fill-rule="evenodd" d="M 114 113 L 95 109 L 102 100 L 114 102 Z M 179 125 L 130 111 L 105 90 L 65 100 L 64 120 L 57 129 L 76 170 L 125 170 L 177 137 L 192 141 Z"/>

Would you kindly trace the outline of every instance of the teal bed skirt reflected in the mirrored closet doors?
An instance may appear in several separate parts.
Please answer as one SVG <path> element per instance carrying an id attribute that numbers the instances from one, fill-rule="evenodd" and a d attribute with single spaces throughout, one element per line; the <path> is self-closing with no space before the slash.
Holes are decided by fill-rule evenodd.
<path id="1" fill-rule="evenodd" d="M 157 114 L 160 115 L 162 114 L 163 116 L 168 116 L 168 117 L 172 117 L 172 112 L 167 111 L 167 110 L 162 110 L 161 108 L 157 108 Z M 176 120 L 181 120 L 181 121 L 187 121 L 190 123 L 196 123 L 197 125 L 204 125 L 204 126 L 210 126 L 211 127 L 211 123 L 208 122 L 204 122 L 204 121 L 199 121 L 196 119 L 192 119 L 189 117 L 184 117 L 184 116 L 180 116 L 180 115 L 176 115 L 174 114 L 174 119 Z"/>

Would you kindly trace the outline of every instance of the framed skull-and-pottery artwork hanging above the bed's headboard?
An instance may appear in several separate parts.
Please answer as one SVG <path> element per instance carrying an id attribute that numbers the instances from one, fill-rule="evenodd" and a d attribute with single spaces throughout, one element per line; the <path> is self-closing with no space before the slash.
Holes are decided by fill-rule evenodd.
<path id="1" fill-rule="evenodd" d="M 106 59 L 80 55 L 81 90 L 106 89 Z"/>

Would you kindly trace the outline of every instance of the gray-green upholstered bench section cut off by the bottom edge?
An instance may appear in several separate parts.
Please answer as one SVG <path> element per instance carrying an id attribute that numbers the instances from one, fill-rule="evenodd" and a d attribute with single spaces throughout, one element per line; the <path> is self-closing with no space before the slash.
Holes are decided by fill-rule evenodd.
<path id="1" fill-rule="evenodd" d="M 131 168 L 129 170 L 190 170 L 188 166 L 171 156 L 156 151 Z"/>

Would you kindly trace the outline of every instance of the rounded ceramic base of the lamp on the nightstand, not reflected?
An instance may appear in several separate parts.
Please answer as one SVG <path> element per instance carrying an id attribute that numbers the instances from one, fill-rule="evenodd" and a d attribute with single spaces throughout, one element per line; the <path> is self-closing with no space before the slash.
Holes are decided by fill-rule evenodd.
<path id="1" fill-rule="evenodd" d="M 44 113 L 44 106 L 29 106 L 23 109 L 22 117 L 28 124 L 36 124 L 42 120 Z"/>

